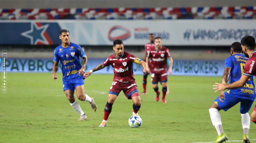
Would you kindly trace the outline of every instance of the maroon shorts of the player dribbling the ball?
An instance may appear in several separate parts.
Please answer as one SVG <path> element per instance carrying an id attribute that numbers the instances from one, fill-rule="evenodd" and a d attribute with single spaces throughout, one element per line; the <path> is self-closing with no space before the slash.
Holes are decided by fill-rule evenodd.
<path id="1" fill-rule="evenodd" d="M 135 81 L 129 83 L 121 83 L 114 79 L 112 86 L 110 87 L 109 94 L 115 94 L 118 96 L 121 90 L 123 90 L 126 98 L 128 99 L 131 99 L 135 96 L 140 96 Z"/>

